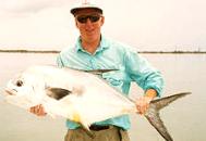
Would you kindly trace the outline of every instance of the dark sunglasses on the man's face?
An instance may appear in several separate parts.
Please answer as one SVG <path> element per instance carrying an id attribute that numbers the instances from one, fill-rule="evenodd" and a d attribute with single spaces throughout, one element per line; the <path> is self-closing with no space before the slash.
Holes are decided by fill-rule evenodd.
<path id="1" fill-rule="evenodd" d="M 87 22 L 87 18 L 89 18 L 89 21 L 92 23 L 95 23 L 95 22 L 99 21 L 100 17 L 101 17 L 101 15 L 78 15 L 78 16 L 76 16 L 76 20 L 81 24 L 85 24 Z"/>

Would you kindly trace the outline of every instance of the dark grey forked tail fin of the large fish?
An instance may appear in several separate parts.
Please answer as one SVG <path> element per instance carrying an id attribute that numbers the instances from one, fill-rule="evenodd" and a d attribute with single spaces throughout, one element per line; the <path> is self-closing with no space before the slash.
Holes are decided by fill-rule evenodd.
<path id="1" fill-rule="evenodd" d="M 159 111 L 169 105 L 171 102 L 175 101 L 177 99 L 185 97 L 187 94 L 191 94 L 191 92 L 182 92 L 162 99 L 154 100 L 150 102 L 149 108 L 145 113 L 145 117 L 147 118 L 147 120 L 166 139 L 166 141 L 173 141 L 173 139 L 169 134 L 166 126 L 163 125 L 163 121 L 159 116 Z"/>

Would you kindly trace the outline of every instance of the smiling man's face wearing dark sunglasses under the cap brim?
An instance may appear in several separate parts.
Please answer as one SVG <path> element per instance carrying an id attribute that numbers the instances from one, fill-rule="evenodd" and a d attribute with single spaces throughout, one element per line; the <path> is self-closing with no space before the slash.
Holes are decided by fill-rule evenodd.
<path id="1" fill-rule="evenodd" d="M 104 21 L 105 17 L 94 9 L 83 9 L 75 13 L 76 27 L 85 40 L 92 41 L 99 37 Z"/>

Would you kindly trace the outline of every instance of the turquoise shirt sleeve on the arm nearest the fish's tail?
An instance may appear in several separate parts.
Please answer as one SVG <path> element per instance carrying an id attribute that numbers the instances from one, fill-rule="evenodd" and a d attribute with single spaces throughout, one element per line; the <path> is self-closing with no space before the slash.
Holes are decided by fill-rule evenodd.
<path id="1" fill-rule="evenodd" d="M 160 97 L 163 88 L 163 79 L 160 72 L 153 67 L 148 61 L 137 52 L 126 52 L 124 60 L 130 78 L 137 82 L 144 91 L 155 89 L 158 97 Z"/>

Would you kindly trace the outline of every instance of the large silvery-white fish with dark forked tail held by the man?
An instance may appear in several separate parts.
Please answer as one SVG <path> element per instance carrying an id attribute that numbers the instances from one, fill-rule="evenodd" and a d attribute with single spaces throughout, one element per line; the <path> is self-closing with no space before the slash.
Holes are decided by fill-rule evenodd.
<path id="1" fill-rule="evenodd" d="M 102 73 L 118 69 L 81 70 L 54 65 L 34 65 L 10 79 L 5 101 L 25 110 L 41 104 L 51 117 L 61 116 L 89 131 L 94 123 L 137 113 L 134 100 L 101 78 Z M 171 102 L 191 94 L 180 92 L 158 98 L 144 114 L 166 141 L 173 141 L 159 111 Z"/>

